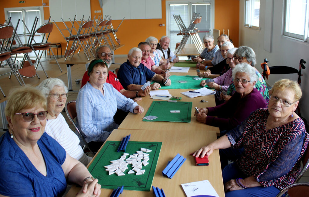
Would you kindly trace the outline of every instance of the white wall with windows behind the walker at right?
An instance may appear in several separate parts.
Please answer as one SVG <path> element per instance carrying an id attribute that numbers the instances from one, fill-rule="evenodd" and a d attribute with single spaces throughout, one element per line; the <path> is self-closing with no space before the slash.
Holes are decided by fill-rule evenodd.
<path id="1" fill-rule="evenodd" d="M 251 47 L 256 53 L 256 68 L 260 73 L 263 72 L 260 63 L 267 58 L 268 66 L 284 65 L 299 68 L 299 60 L 304 59 L 307 64 L 305 70 L 302 70 L 301 88 L 303 96 L 300 100 L 300 109 L 302 116 L 309 120 L 309 43 L 300 42 L 294 39 L 282 36 L 283 24 L 283 7 L 284 0 L 261 0 L 260 1 L 260 27 L 261 30 L 254 30 L 244 27 L 244 0 L 239 1 L 239 46 L 246 45 Z M 269 6 L 273 3 L 273 13 L 269 10 Z M 265 24 L 269 24 L 269 20 L 273 17 L 272 32 L 269 28 L 265 29 Z M 266 20 L 266 21 L 265 21 Z M 269 37 L 268 35 L 272 33 Z M 265 42 L 270 42 L 271 52 L 264 48 Z M 265 44 L 266 45 L 266 44 Z M 271 86 L 275 81 L 282 78 L 297 80 L 297 74 L 290 75 L 270 75 L 266 80 Z"/>

